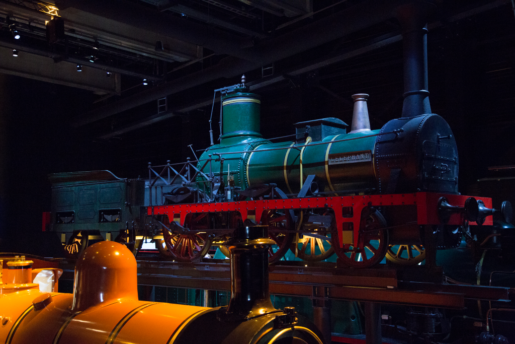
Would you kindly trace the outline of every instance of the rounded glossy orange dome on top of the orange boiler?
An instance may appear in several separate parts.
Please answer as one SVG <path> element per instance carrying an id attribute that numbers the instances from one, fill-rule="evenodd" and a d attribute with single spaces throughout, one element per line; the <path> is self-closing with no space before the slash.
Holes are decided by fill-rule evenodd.
<path id="1" fill-rule="evenodd" d="M 116 300 L 138 300 L 136 274 L 136 259 L 124 245 L 114 241 L 91 245 L 77 259 L 72 311 Z"/>

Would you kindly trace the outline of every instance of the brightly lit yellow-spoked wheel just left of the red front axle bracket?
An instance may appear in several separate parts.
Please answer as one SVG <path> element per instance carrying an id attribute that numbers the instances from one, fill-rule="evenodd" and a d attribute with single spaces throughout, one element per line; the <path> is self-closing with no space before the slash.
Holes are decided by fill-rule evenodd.
<path id="1" fill-rule="evenodd" d="M 299 228 L 302 230 L 304 225 L 303 212 L 301 212 L 300 217 L 302 220 Z M 311 237 L 309 234 L 326 236 L 328 240 L 324 240 L 318 237 Z M 326 228 L 314 228 L 313 232 L 304 233 L 304 237 L 302 239 L 294 238 L 291 243 L 290 250 L 297 257 L 301 258 L 305 261 L 321 261 L 331 257 L 334 254 L 334 249 L 332 245 L 331 238 L 331 230 Z"/>

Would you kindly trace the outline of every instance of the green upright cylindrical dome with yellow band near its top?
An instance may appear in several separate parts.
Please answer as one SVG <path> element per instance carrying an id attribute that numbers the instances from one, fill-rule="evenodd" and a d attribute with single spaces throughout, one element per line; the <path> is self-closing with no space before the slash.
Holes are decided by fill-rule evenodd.
<path id="1" fill-rule="evenodd" d="M 237 136 L 262 137 L 261 100 L 253 93 L 236 92 L 222 97 L 221 139 Z"/>

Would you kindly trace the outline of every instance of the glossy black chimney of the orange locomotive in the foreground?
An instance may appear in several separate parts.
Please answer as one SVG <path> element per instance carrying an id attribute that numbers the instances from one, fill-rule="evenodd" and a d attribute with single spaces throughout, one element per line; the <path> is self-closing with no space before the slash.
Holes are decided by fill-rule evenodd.
<path id="1" fill-rule="evenodd" d="M 241 321 L 267 313 L 281 312 L 273 307 L 268 291 L 268 226 L 239 227 L 226 245 L 231 255 L 231 301 L 218 317 Z"/>

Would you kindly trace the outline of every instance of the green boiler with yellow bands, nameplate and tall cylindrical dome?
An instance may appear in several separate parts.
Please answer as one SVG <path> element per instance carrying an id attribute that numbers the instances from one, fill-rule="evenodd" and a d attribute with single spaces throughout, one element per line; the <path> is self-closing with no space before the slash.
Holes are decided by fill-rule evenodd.
<path id="1" fill-rule="evenodd" d="M 307 176 L 312 174 L 323 192 L 350 190 L 349 193 L 359 193 L 375 186 L 373 152 L 376 137 L 367 136 L 377 134 L 379 130 L 345 134 L 346 124 L 340 121 L 336 129 L 342 134 L 323 137 L 322 131 L 318 130 L 321 136 L 316 138 L 321 137 L 322 141 L 310 142 L 310 138 L 306 141 L 307 146 L 297 148 L 292 146 L 293 141 L 271 143 L 262 139 L 259 134 L 258 95 L 237 90 L 222 97 L 222 109 L 223 135 L 220 143 L 201 155 L 197 168 L 204 165 L 209 154 L 221 153 L 212 156 L 213 160 L 204 167 L 203 172 L 207 175 L 212 172 L 215 177 L 221 175 L 225 185 L 230 173 L 234 175 L 235 186 L 242 189 L 274 183 L 288 194 L 297 194 Z M 323 120 L 328 119 L 320 121 Z M 341 139 L 351 140 L 332 142 Z M 327 143 L 319 144 L 321 142 Z M 295 145 L 302 145 L 302 142 Z M 257 151 L 251 152 L 253 150 Z M 204 178 L 198 176 L 197 182 L 202 181 Z M 200 187 L 209 191 L 207 184 Z"/>

